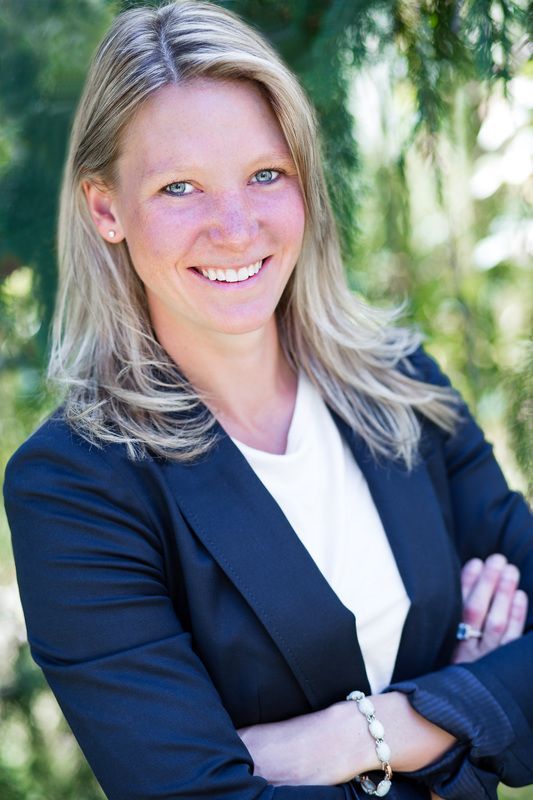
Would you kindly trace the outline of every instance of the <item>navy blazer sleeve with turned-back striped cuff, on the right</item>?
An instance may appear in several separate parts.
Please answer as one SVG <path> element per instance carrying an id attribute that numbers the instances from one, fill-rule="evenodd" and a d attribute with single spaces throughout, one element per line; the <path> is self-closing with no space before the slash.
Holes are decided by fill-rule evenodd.
<path id="1" fill-rule="evenodd" d="M 449 385 L 422 350 L 413 357 L 428 383 Z M 409 773 L 445 800 L 496 798 L 497 785 L 533 782 L 533 520 L 524 499 L 507 487 L 491 446 L 466 405 L 453 435 L 429 437 L 442 448 L 444 472 L 433 479 L 451 510 L 448 520 L 464 564 L 503 553 L 521 572 L 530 598 L 526 630 L 478 661 L 453 665 L 390 686 L 404 692 L 424 717 L 459 740 L 442 759 Z M 440 440 L 440 441 L 439 441 Z M 438 459 L 437 459 L 438 460 Z"/>

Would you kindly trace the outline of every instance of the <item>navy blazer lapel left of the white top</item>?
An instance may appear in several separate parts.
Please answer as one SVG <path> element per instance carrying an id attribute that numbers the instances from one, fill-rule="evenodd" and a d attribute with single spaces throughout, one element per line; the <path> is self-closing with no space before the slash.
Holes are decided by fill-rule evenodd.
<path id="1" fill-rule="evenodd" d="M 205 458 L 165 465 L 181 512 L 254 609 L 313 710 L 355 687 L 368 693 L 354 615 L 218 423 L 217 433 Z"/>

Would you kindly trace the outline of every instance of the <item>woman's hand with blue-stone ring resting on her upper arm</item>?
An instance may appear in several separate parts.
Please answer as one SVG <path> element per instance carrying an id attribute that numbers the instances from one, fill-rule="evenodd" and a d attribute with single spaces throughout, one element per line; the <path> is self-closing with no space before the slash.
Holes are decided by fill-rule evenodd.
<path id="1" fill-rule="evenodd" d="M 455 648 L 452 663 L 477 661 L 524 632 L 528 599 L 517 589 L 520 572 L 495 553 L 485 562 L 473 558 L 463 567 L 463 622 L 483 631 L 480 639 L 466 639 Z"/>

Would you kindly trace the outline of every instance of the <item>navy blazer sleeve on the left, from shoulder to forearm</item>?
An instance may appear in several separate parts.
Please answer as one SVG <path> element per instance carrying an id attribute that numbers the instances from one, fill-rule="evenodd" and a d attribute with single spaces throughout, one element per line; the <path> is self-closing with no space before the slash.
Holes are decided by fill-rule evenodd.
<path id="1" fill-rule="evenodd" d="M 65 429 L 11 459 L 6 510 L 32 656 L 109 800 L 353 797 L 253 775 L 168 594 L 147 487 Z"/>

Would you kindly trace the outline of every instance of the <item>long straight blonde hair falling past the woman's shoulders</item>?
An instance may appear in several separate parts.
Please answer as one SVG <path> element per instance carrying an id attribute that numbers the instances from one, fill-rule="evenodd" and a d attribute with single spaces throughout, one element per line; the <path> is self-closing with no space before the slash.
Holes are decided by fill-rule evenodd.
<path id="1" fill-rule="evenodd" d="M 411 465 L 417 412 L 451 430 L 452 393 L 398 369 L 419 345 L 348 288 L 321 166 L 315 114 L 297 79 L 233 13 L 183 0 L 119 15 L 93 59 L 74 121 L 61 192 L 59 294 L 49 377 L 65 419 L 89 441 L 121 442 L 178 461 L 214 442 L 215 419 L 157 342 L 127 246 L 107 244 L 89 215 L 84 180 L 113 186 L 124 129 L 161 87 L 193 78 L 251 80 L 279 121 L 297 167 L 306 226 L 276 310 L 289 363 L 375 456 Z"/>

